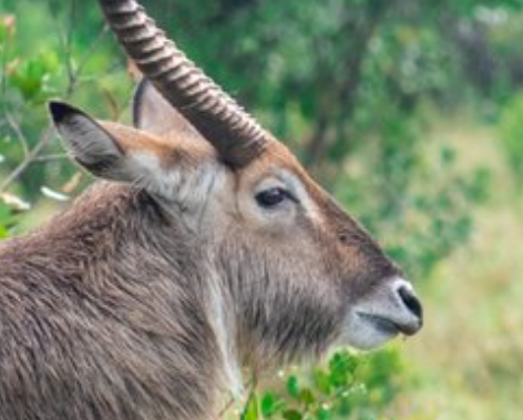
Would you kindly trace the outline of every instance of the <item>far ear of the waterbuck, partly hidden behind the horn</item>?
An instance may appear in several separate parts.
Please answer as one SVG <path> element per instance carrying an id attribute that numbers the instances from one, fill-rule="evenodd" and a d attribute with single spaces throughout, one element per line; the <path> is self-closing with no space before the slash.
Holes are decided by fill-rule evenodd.
<path id="1" fill-rule="evenodd" d="M 203 140 L 196 129 L 145 78 L 134 92 L 133 123 L 136 129 L 157 135 L 177 132 Z"/>

